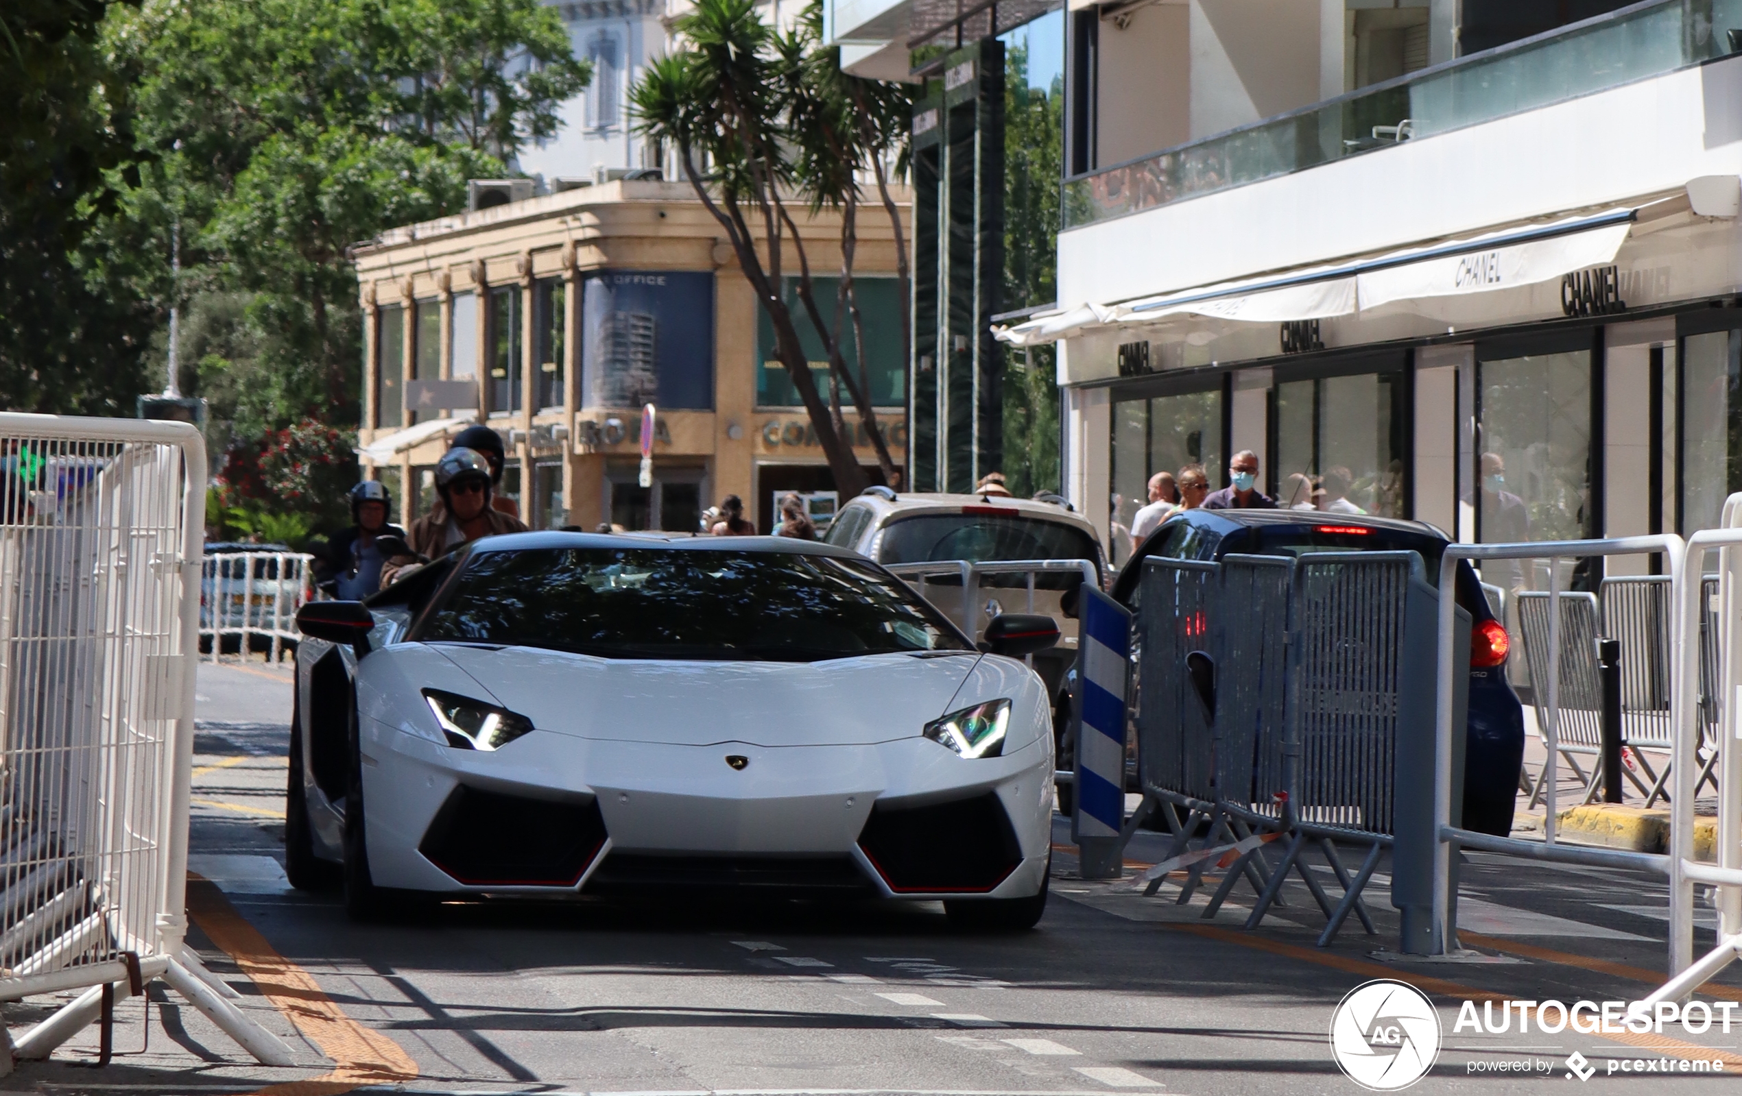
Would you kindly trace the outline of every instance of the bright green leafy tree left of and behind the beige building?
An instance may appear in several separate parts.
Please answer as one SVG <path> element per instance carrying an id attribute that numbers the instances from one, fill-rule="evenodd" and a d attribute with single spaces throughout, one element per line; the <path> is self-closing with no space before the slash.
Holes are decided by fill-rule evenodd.
<path id="1" fill-rule="evenodd" d="M 181 306 L 181 386 L 211 402 L 214 449 L 244 454 L 357 423 L 350 245 L 462 209 L 591 75 L 538 0 L 143 0 L 103 49 L 145 164 L 115 179 L 106 268 L 159 322 Z"/>

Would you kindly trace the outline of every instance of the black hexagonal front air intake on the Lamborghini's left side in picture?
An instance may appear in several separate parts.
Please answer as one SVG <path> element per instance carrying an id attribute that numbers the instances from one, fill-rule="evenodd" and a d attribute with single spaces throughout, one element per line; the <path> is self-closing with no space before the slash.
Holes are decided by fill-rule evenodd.
<path id="1" fill-rule="evenodd" d="M 418 845 L 470 887 L 573 887 L 604 847 L 599 804 L 559 804 L 460 786 Z"/>

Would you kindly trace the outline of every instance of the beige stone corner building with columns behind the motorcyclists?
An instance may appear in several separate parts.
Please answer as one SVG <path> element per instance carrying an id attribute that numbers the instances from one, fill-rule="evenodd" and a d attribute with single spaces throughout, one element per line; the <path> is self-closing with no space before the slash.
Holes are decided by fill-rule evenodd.
<path id="1" fill-rule="evenodd" d="M 838 216 L 798 224 L 812 268 L 840 270 Z M 834 485 L 773 360 L 772 325 L 686 183 L 624 179 L 397 228 L 355 249 L 355 266 L 366 317 L 359 444 L 406 518 L 434 501 L 434 464 L 472 421 L 502 435 L 503 491 L 535 529 L 690 532 L 725 494 L 766 529 L 775 494 Z M 866 367 L 901 452 L 894 271 L 892 226 L 861 216 Z M 834 282 L 817 278 L 817 292 L 833 299 Z M 820 339 L 805 325 L 800 334 L 820 381 Z M 646 404 L 657 407 L 652 487 L 639 484 Z M 857 428 L 854 440 L 866 442 Z M 869 444 L 855 452 L 874 466 Z"/>

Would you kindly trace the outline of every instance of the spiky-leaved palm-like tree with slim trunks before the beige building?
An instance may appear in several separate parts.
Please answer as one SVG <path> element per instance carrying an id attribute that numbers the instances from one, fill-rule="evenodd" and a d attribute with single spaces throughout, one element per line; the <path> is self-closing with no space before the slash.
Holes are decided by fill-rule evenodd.
<path id="1" fill-rule="evenodd" d="M 719 221 L 775 332 L 775 355 L 805 405 L 843 494 L 866 485 L 847 440 L 840 397 L 845 391 L 878 451 L 885 475 L 894 471 L 871 409 L 869 383 L 845 367 L 843 339 L 859 337 L 852 294 L 861 179 L 899 160 L 906 125 L 906 89 L 883 89 L 840 71 L 840 54 L 820 45 L 820 5 L 812 3 L 796 28 L 775 33 L 754 0 L 699 0 L 674 30 L 683 49 L 648 66 L 631 90 L 638 129 L 678 155 L 685 177 Z M 904 117 L 904 115 L 902 115 Z M 878 174 L 887 198 L 887 179 Z M 843 268 L 833 308 L 819 303 L 810 257 L 791 204 L 840 209 Z M 895 216 L 894 202 L 887 211 Z M 895 221 L 899 233 L 899 219 Z M 796 271 L 789 271 L 787 259 Z M 794 277 L 800 306 L 829 355 L 829 402 L 798 339 L 793 310 L 782 292 Z M 906 292 L 902 294 L 906 299 Z M 833 317 L 833 322 L 831 322 Z M 859 353 L 861 365 L 866 357 Z"/>

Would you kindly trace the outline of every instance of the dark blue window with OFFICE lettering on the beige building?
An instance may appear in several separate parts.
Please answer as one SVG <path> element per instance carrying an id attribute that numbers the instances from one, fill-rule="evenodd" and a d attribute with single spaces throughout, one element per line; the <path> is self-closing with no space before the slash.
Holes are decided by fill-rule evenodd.
<path id="1" fill-rule="evenodd" d="M 601 270 L 580 301 L 584 405 L 712 409 L 714 275 Z"/>

